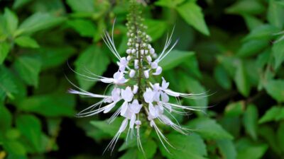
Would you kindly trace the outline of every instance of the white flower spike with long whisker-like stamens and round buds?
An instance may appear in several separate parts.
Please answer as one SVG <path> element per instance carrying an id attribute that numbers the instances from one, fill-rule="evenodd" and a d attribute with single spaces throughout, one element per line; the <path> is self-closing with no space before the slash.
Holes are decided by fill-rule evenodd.
<path id="1" fill-rule="evenodd" d="M 119 52 L 116 50 L 113 39 L 114 27 L 112 28 L 112 35 L 105 32 L 104 42 L 114 56 L 119 60 L 117 62 L 119 69 L 116 73 L 114 73 L 113 78 L 97 76 L 93 73 L 92 76 L 82 75 L 92 81 L 113 84 L 114 88 L 111 90 L 111 94 L 98 95 L 89 93 L 78 87 L 77 88 L 79 90 L 69 91 L 73 94 L 102 99 L 94 105 L 87 107 L 87 109 L 82 110 L 82 112 L 79 112 L 77 114 L 78 117 L 89 117 L 101 112 L 108 113 L 111 110 L 115 110 L 115 112 L 110 117 L 109 123 L 113 122 L 118 116 L 124 117 L 117 134 L 107 147 L 111 150 L 113 150 L 119 136 L 127 127 L 127 136 L 132 138 L 136 135 L 138 146 L 142 147 L 139 137 L 139 129 L 142 124 L 141 121 L 148 120 L 150 126 L 155 129 L 155 132 L 160 141 L 163 143 L 163 146 L 165 146 L 164 143 L 168 143 L 168 141 L 162 131 L 158 129 L 156 122 L 171 126 L 173 129 L 182 134 L 187 134 L 187 129 L 182 128 L 182 126 L 178 124 L 173 113 L 187 114 L 186 110 L 197 110 L 197 107 L 180 105 L 180 98 L 202 97 L 200 96 L 201 94 L 185 94 L 170 90 L 168 88 L 170 83 L 165 81 L 165 78 L 163 77 L 161 78 L 161 84 L 152 82 L 151 79 L 153 76 L 158 76 L 162 73 L 163 69 L 159 66 L 160 61 L 162 61 L 167 54 L 170 53 L 178 41 L 175 41 L 173 45 L 171 45 L 172 32 L 170 37 L 167 38 L 162 52 L 157 54 L 150 44 L 151 37 L 145 32 L 147 27 L 143 25 L 143 18 L 140 16 L 141 13 L 135 13 L 138 11 L 135 8 L 137 7 L 136 5 L 133 5 L 132 7 L 132 12 L 129 13 L 129 16 L 127 17 L 128 23 L 126 23 L 128 28 L 127 36 L 129 37 L 126 57 L 121 57 Z M 178 104 L 169 102 L 170 97 L 176 98 Z M 121 104 L 119 105 L 119 103 Z M 114 109 L 114 107 L 116 107 L 116 109 Z M 142 120 L 140 119 L 141 117 L 146 117 L 147 119 Z M 126 139 L 128 139 L 128 137 Z M 170 145 L 170 143 L 168 144 Z M 165 149 L 168 150 L 166 146 Z"/>

